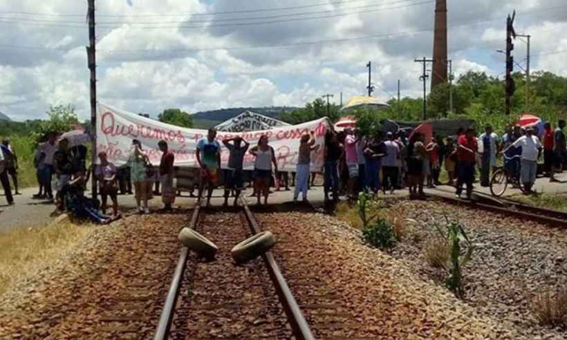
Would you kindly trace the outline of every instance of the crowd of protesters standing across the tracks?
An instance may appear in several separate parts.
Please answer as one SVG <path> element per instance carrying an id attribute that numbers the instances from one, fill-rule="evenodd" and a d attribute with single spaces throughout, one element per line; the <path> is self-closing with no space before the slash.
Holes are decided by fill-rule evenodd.
<path id="1" fill-rule="evenodd" d="M 490 185 L 490 178 L 497 167 L 497 159 L 503 155 L 503 164 L 510 177 L 516 178 L 523 185 L 525 192 L 532 191 L 537 176 L 537 161 L 543 155 L 543 171 L 556 181 L 555 173 L 567 165 L 565 120 L 559 120 L 557 127 L 546 123 L 543 131 L 533 127 L 524 129 L 519 125 L 510 129 L 501 137 L 492 126 L 484 127 L 478 135 L 474 128 L 458 129 L 455 135 L 438 136 L 436 133 L 426 140 L 419 132 L 411 133 L 409 138 L 405 131 L 364 135 L 355 129 L 344 129 L 336 132 L 329 130 L 324 136 L 324 199 L 337 201 L 340 196 L 355 199 L 360 192 L 377 195 L 394 193 L 396 189 L 407 187 L 410 198 L 423 198 L 424 187 L 440 185 L 441 169 L 447 171 L 447 185 L 456 187 L 456 195 L 461 197 L 463 186 L 466 187 L 467 198 L 472 193 L 475 175 L 480 173 L 480 185 Z M 277 190 L 285 187 L 289 190 L 288 172 L 278 171 L 274 149 L 270 146 L 266 135 L 259 138 L 254 147 L 241 137 L 222 141 L 229 153 L 227 169 L 221 173 L 221 143 L 217 140 L 215 129 L 198 140 L 196 145 L 196 161 L 198 198 L 206 192 L 206 205 L 210 205 L 213 190 L 224 182 L 224 205 L 228 205 L 229 197 L 234 196 L 234 205 L 238 205 L 245 182 L 253 182 L 257 204 L 268 204 L 270 187 Z M 177 196 L 174 184 L 176 170 L 175 154 L 169 151 L 167 142 L 158 143 L 162 157 L 159 167 L 154 167 L 147 153 L 142 149 L 139 140 L 132 141 L 131 154 L 126 164 L 116 167 L 109 162 L 106 153 L 98 154 L 96 165 L 86 167 L 86 147 L 82 145 L 70 147 L 66 138 L 57 139 L 55 133 L 48 135 L 46 142 L 40 144 L 34 155 L 39 192 L 37 199 L 48 199 L 55 202 L 58 210 L 71 211 L 77 216 L 90 218 L 97 223 L 109 223 L 120 217 L 118 193 L 132 193 L 136 200 L 136 212 L 148 214 L 148 202 L 156 193 L 160 193 L 163 212 L 173 209 Z M 0 145 L 0 180 L 8 205 L 14 203 L 10 180 L 18 190 L 18 162 L 15 151 L 8 140 Z M 314 185 L 316 172 L 311 167 L 312 153 L 319 146 L 315 142 L 315 134 L 306 133 L 301 136 L 297 150 L 297 168 L 292 172 L 295 184 L 293 201 L 308 199 L 308 190 Z M 246 178 L 243 170 L 245 155 L 254 158 L 254 170 L 250 178 Z M 443 167 L 444 166 L 444 167 Z M 86 198 L 86 183 L 92 179 L 97 182 L 101 202 Z M 152 190 L 156 188 L 156 190 Z M 206 191 L 205 191 L 206 190 Z M 112 214 L 106 215 L 108 200 L 111 200 Z"/>

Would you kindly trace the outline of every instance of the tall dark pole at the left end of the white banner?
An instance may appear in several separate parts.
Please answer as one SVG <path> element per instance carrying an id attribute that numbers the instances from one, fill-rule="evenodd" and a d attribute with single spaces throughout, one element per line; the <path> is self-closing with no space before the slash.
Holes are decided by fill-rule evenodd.
<path id="1" fill-rule="evenodd" d="M 97 159 L 97 75 L 96 75 L 96 35 L 95 35 L 95 0 L 87 0 L 89 3 L 89 11 L 87 12 L 87 20 L 89 21 L 89 46 L 86 48 L 86 55 L 91 70 L 91 133 L 93 136 L 93 144 L 91 150 L 91 163 L 94 164 Z M 93 198 L 97 198 L 97 181 L 92 180 Z"/>

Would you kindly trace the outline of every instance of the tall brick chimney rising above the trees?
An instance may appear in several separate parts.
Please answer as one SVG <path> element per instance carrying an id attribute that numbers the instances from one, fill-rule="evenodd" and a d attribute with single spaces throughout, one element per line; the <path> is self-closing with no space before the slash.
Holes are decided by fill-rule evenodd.
<path id="1" fill-rule="evenodd" d="M 431 89 L 447 82 L 447 0 L 435 1 L 433 59 Z"/>

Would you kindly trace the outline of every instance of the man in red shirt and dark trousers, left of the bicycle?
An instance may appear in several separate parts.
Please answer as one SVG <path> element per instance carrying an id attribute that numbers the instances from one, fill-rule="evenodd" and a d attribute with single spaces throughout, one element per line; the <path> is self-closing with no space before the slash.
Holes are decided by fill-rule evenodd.
<path id="1" fill-rule="evenodd" d="M 467 133 L 458 138 L 457 198 L 461 198 L 461 193 L 463 193 L 463 184 L 467 185 L 467 199 L 470 200 L 470 196 L 472 194 L 474 165 L 476 164 L 476 152 L 478 152 L 478 143 L 476 142 L 474 135 L 474 129 L 470 127 L 467 129 Z"/>

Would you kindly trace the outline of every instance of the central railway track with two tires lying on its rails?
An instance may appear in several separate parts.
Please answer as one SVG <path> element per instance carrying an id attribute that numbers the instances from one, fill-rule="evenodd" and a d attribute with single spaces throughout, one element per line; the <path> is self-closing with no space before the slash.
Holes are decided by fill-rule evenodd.
<path id="1" fill-rule="evenodd" d="M 270 252 L 235 265 L 230 249 L 259 232 L 243 211 L 196 207 L 192 229 L 219 247 L 214 261 L 181 251 L 154 339 L 314 339 Z"/>

